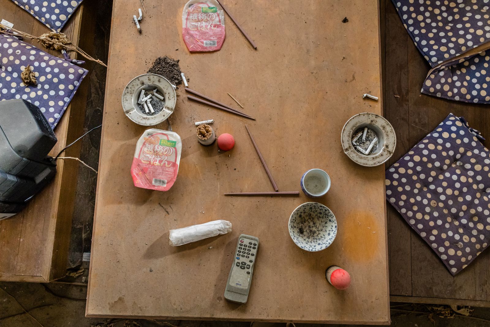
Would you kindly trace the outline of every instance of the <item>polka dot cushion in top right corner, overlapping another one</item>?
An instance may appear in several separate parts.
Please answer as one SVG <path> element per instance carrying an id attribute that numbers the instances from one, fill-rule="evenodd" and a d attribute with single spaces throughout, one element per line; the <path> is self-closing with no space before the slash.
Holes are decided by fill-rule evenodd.
<path id="1" fill-rule="evenodd" d="M 490 39 L 489 0 L 392 0 L 432 67 Z"/>

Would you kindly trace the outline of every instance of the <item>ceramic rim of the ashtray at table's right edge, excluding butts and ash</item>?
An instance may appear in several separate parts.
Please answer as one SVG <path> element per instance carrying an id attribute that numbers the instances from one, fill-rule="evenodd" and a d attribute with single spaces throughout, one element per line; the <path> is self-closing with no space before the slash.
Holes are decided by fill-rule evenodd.
<path id="1" fill-rule="evenodd" d="M 352 138 L 357 130 L 368 127 L 378 138 L 375 151 L 362 154 L 354 149 Z M 379 166 L 388 161 L 396 146 L 396 134 L 393 126 L 382 116 L 372 112 L 363 112 L 351 117 L 343 126 L 341 142 L 343 152 L 361 166 Z"/>

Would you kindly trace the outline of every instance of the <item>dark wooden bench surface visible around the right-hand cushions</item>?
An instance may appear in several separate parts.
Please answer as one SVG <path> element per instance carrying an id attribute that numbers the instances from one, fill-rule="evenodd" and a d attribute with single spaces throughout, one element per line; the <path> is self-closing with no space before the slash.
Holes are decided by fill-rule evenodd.
<path id="1" fill-rule="evenodd" d="M 429 64 L 403 27 L 392 1 L 380 2 L 384 115 L 395 128 L 398 141 L 386 168 L 449 113 L 465 117 L 471 127 L 490 138 L 489 105 L 448 101 L 420 93 Z M 488 144 L 489 141 L 484 142 L 487 147 Z M 490 306 L 489 251 L 480 254 L 471 265 L 452 277 L 439 257 L 389 203 L 387 215 L 392 300 L 458 304 L 465 303 L 460 300 L 472 300 L 466 303 Z M 413 298 L 404 298 L 407 296 Z"/>

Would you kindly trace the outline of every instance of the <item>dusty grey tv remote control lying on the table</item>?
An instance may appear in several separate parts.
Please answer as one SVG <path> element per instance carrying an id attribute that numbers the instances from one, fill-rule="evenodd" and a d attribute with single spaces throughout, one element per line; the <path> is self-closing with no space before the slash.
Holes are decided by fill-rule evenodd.
<path id="1" fill-rule="evenodd" d="M 257 237 L 245 234 L 240 235 L 237 249 L 234 253 L 233 265 L 224 290 L 224 298 L 226 300 L 246 303 L 258 249 L 259 239 Z"/>

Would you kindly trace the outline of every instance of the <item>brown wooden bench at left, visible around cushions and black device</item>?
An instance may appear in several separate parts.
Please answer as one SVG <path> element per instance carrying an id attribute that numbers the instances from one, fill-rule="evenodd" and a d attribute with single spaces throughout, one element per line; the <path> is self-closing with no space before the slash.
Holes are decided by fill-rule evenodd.
<path id="1" fill-rule="evenodd" d="M 35 36 L 49 31 L 46 25 L 11 0 L 0 0 L 0 8 L 1 19 L 13 23 L 18 30 Z M 83 4 L 63 28 L 74 44 L 78 44 L 81 33 L 82 13 Z M 42 48 L 37 42 L 33 45 Z M 61 56 L 59 51 L 47 52 Z M 76 58 L 76 53 L 70 56 Z M 54 130 L 58 142 L 50 155 L 56 155 L 82 134 L 85 84 L 80 84 Z M 80 144 L 75 144 L 65 154 L 77 157 L 79 147 Z M 65 276 L 78 165 L 74 160 L 58 160 L 56 176 L 49 185 L 21 213 L 0 221 L 0 280 L 48 282 Z"/>

